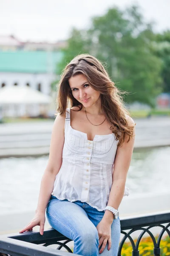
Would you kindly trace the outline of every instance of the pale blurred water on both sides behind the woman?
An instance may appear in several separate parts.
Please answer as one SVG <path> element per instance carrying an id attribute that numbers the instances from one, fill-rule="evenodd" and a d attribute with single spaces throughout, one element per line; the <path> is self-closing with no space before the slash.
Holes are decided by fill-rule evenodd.
<path id="1" fill-rule="evenodd" d="M 130 196 L 170 192 L 170 147 L 135 149 L 127 175 Z M 0 215 L 37 207 L 48 156 L 0 159 Z"/>

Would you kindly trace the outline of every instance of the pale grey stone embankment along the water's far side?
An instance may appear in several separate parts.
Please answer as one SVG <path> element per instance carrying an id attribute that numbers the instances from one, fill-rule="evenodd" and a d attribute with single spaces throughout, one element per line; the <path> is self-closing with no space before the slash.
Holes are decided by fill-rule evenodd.
<path id="1" fill-rule="evenodd" d="M 170 145 L 170 117 L 134 119 L 135 148 Z M 54 120 L 0 124 L 0 157 L 49 153 Z"/>

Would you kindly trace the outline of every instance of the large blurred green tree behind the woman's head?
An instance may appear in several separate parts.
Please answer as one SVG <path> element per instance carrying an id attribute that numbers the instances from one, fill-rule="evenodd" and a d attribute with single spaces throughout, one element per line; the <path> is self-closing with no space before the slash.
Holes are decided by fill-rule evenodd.
<path id="1" fill-rule="evenodd" d="M 111 8 L 105 15 L 93 17 L 89 29 L 72 30 L 58 74 L 76 55 L 90 53 L 107 64 L 116 86 L 128 92 L 125 102 L 139 101 L 154 107 L 155 97 L 162 91 L 163 64 L 151 50 L 153 41 L 152 24 L 144 22 L 138 6 L 125 11 Z"/>

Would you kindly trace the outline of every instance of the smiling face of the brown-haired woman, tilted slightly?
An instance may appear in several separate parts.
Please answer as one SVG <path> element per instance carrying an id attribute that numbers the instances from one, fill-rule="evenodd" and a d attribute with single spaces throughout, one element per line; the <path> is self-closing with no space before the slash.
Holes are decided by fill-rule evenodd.
<path id="1" fill-rule="evenodd" d="M 85 108 L 91 107 L 100 100 L 99 91 L 94 90 L 83 74 L 71 77 L 68 80 L 72 94 Z"/>

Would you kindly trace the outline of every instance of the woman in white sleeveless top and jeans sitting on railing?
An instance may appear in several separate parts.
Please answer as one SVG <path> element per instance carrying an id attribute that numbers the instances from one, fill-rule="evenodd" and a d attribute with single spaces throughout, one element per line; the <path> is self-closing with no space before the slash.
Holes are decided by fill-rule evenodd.
<path id="1" fill-rule="evenodd" d="M 48 165 L 33 220 L 74 241 L 74 253 L 117 256 L 119 205 L 133 153 L 135 123 L 102 63 L 76 56 L 62 73 Z M 71 108 L 67 108 L 70 102 Z"/>

